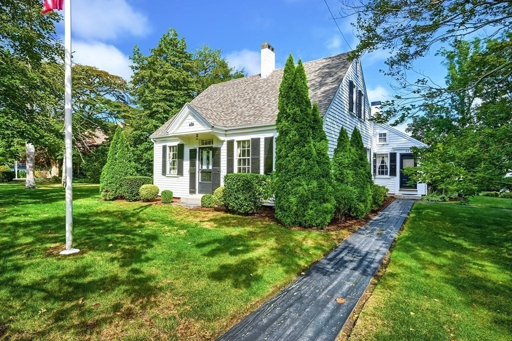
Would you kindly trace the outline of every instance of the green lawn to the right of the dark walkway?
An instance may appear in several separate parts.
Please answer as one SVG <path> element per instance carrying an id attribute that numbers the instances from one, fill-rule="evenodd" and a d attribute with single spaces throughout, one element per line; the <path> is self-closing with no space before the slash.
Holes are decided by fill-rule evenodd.
<path id="1" fill-rule="evenodd" d="M 511 340 L 510 201 L 415 204 L 350 340 Z"/>

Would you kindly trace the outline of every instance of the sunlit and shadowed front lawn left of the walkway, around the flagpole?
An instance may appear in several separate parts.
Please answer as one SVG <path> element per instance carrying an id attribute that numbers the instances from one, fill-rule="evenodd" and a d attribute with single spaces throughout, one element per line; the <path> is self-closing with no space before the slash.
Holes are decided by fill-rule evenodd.
<path id="1" fill-rule="evenodd" d="M 347 237 L 266 218 L 0 184 L 0 339 L 214 338 Z"/>

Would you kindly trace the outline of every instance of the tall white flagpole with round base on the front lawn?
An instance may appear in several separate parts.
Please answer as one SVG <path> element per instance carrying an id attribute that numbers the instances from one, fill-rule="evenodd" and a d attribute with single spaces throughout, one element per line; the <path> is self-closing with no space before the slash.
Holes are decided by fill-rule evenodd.
<path id="1" fill-rule="evenodd" d="M 66 140 L 66 249 L 61 255 L 74 254 L 80 251 L 73 248 L 73 133 L 71 129 L 71 0 L 64 2 L 64 126 Z"/>

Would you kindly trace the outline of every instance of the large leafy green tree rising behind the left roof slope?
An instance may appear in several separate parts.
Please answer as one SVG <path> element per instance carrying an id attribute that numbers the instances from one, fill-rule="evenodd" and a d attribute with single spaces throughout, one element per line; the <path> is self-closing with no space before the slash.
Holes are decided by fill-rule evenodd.
<path id="1" fill-rule="evenodd" d="M 206 87 L 242 77 L 243 72 L 230 68 L 220 50 L 205 46 L 189 52 L 185 38 L 179 37 L 175 30 L 166 32 L 148 55 L 136 46 L 131 60 L 136 106 L 125 115 L 125 132 L 137 160 L 137 172 L 150 176 L 153 174 L 150 135 Z"/>

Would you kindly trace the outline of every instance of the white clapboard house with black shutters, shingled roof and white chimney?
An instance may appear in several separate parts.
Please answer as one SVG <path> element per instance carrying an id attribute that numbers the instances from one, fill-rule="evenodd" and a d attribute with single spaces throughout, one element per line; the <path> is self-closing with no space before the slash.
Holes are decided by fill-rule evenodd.
<path id="1" fill-rule="evenodd" d="M 212 193 L 227 173 L 268 174 L 274 169 L 275 119 L 283 69 L 274 70 L 274 48 L 261 46 L 261 74 L 210 85 L 151 135 L 154 184 L 175 197 Z M 347 54 L 304 63 L 312 103 L 324 120 L 332 156 L 343 126 L 361 131 L 375 183 L 392 194 L 425 194 L 401 174 L 414 164 L 411 146 L 423 146 L 392 127 L 369 121 L 359 60 Z M 380 104 L 380 103 L 378 103 Z M 372 157 L 373 155 L 373 157 Z"/>

